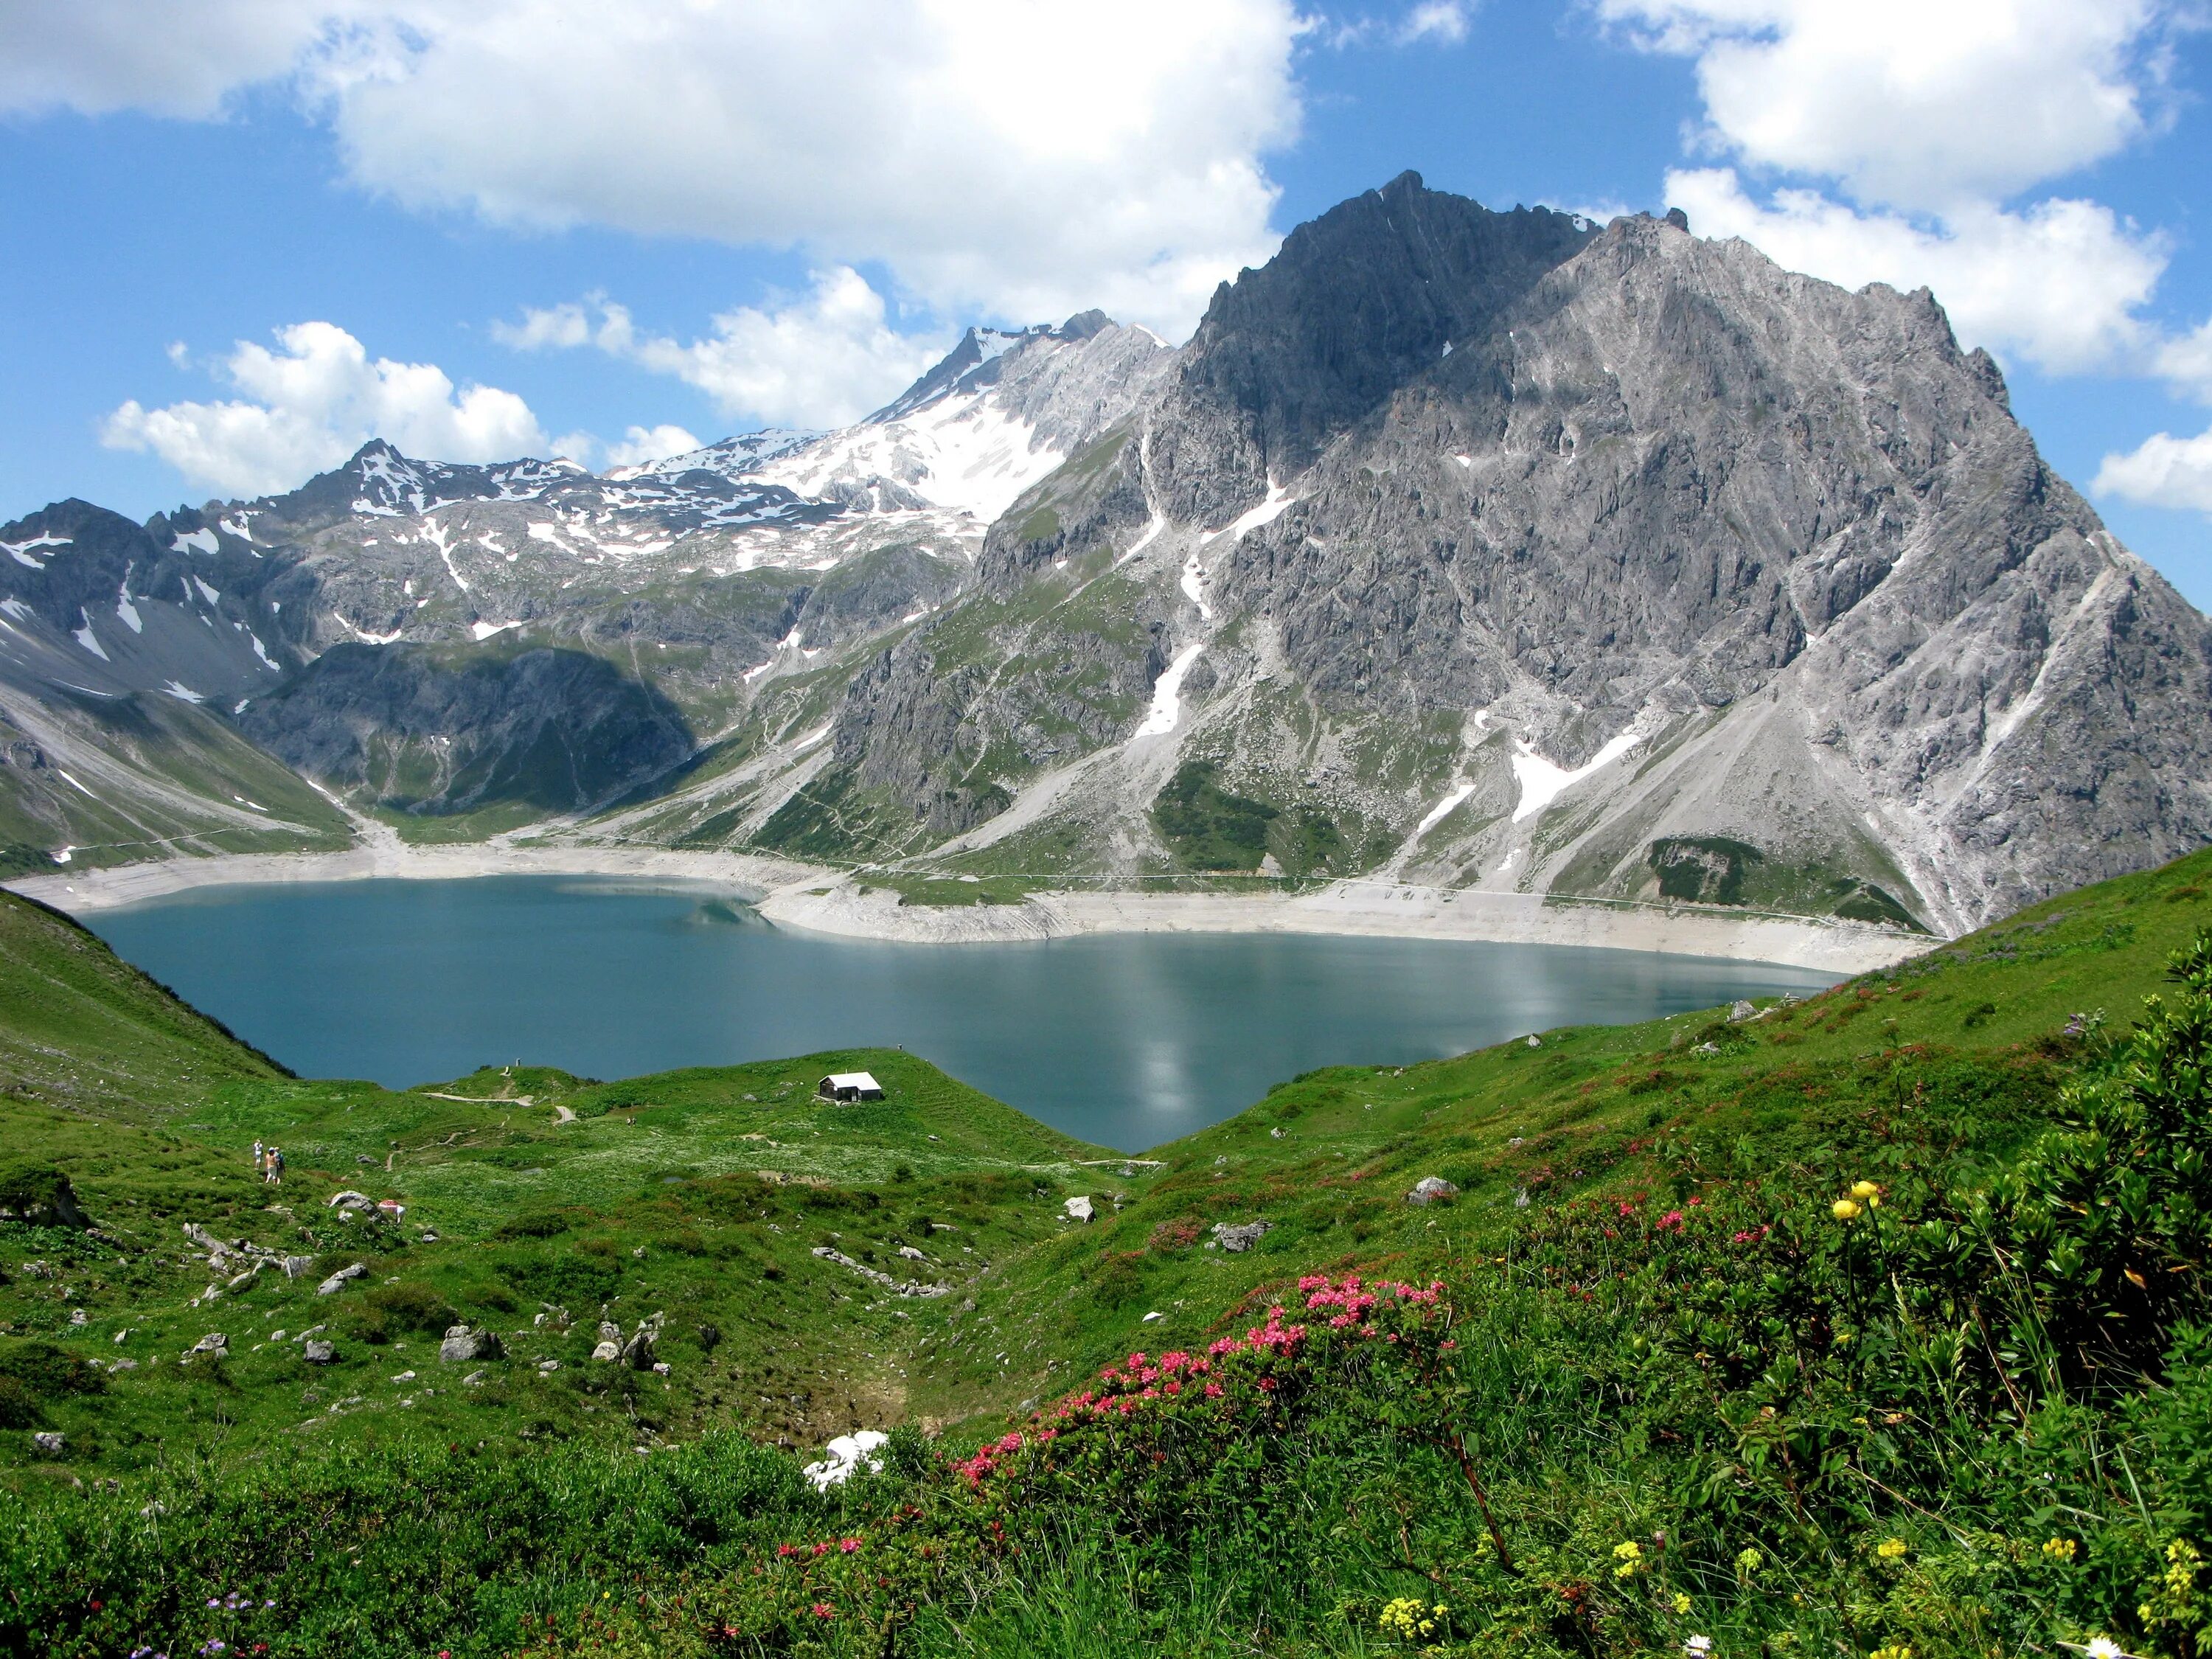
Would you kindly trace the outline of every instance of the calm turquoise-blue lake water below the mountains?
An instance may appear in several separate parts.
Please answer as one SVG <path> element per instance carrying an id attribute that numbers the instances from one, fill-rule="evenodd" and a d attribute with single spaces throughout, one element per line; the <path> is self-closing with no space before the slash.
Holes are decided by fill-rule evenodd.
<path id="1" fill-rule="evenodd" d="M 905 1044 L 1071 1135 L 1141 1150 L 1332 1064 L 1405 1064 L 1836 975 L 1566 945 L 785 933 L 697 887 L 560 876 L 210 887 L 88 918 L 307 1077 L 586 1077 Z"/>

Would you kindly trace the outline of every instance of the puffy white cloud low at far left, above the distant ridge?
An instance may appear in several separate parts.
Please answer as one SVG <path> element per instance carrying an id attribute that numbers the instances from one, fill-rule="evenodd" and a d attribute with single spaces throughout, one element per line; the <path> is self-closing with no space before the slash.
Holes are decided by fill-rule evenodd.
<path id="1" fill-rule="evenodd" d="M 276 330 L 276 349 L 239 341 L 219 365 L 243 396 L 226 403 L 135 398 L 100 429 L 113 449 L 150 449 L 195 484 L 230 495 L 292 489 L 369 438 L 427 460 L 542 453 L 538 416 L 513 392 L 456 389 L 434 363 L 369 361 L 334 323 Z"/>

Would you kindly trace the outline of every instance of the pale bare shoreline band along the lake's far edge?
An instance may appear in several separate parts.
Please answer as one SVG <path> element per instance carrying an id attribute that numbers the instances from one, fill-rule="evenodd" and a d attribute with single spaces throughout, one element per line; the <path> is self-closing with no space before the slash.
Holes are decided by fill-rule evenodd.
<path id="1" fill-rule="evenodd" d="M 1020 905 L 902 905 L 845 872 L 787 858 L 666 847 L 502 845 L 418 847 L 398 836 L 334 854 L 234 854 L 18 876 L 11 891 L 71 916 L 201 887 L 332 880 L 469 880 L 575 876 L 714 887 L 759 905 L 787 929 L 925 945 L 982 945 L 1088 933 L 1321 933 L 1484 945 L 1579 945 L 1736 962 L 1776 962 L 1836 975 L 1889 967 L 1942 940 L 1860 922 L 1730 916 L 1712 909 L 1546 902 L 1535 894 L 1343 880 L 1312 894 L 1037 891 Z"/>

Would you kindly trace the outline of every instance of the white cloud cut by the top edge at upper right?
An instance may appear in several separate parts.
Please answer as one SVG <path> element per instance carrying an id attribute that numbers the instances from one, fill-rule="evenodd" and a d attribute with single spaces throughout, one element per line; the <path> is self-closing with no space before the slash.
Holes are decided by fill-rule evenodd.
<path id="1" fill-rule="evenodd" d="M 2150 124 L 2161 0 L 1599 0 L 1697 58 L 1710 142 L 1947 212 L 2115 155 Z"/>

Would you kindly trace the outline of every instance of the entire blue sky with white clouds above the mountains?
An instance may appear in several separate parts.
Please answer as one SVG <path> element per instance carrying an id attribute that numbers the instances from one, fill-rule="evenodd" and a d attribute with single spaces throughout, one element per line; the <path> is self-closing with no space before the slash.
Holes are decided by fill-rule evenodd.
<path id="1" fill-rule="evenodd" d="M 2212 0 L 0 0 L 0 522 L 1170 341 L 1413 168 L 1929 285 L 2212 608 Z"/>

